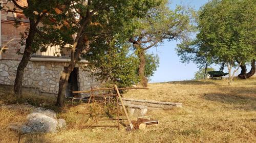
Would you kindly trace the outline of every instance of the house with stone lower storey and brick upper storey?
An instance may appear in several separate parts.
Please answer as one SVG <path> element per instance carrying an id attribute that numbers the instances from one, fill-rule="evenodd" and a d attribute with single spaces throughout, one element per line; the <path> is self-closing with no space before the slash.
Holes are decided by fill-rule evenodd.
<path id="1" fill-rule="evenodd" d="M 24 0 L 18 2 L 22 6 L 26 5 Z M 20 33 L 29 26 L 29 20 L 21 11 L 12 11 L 13 6 L 12 2 L 6 3 L 0 15 L 0 46 L 8 43 L 8 49 L 0 53 L 0 85 L 14 84 L 17 66 L 22 58 L 17 54 L 19 48 L 20 51 L 23 49 L 19 44 Z M 14 27 L 15 18 L 20 21 L 17 28 Z M 34 88 L 41 94 L 57 94 L 60 74 L 69 64 L 69 55 L 68 51 L 60 51 L 58 47 L 49 47 L 46 52 L 34 53 L 24 72 L 23 87 Z M 91 85 L 98 84 L 95 79 L 88 76 L 88 72 L 83 71 L 82 67 L 87 64 L 84 59 L 77 63 L 70 75 L 66 96 L 71 96 L 70 91 L 89 90 Z"/>

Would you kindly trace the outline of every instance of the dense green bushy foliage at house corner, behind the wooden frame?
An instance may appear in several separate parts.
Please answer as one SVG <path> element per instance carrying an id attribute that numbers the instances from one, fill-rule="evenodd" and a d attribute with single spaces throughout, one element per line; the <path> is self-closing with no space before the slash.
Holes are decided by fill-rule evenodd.
<path id="1" fill-rule="evenodd" d="M 90 61 L 86 67 L 91 76 L 102 81 L 106 87 L 131 87 L 137 84 L 139 78 L 136 74 L 138 58 L 131 54 L 129 45 L 110 43 L 100 50 L 90 49 L 84 57 Z"/>

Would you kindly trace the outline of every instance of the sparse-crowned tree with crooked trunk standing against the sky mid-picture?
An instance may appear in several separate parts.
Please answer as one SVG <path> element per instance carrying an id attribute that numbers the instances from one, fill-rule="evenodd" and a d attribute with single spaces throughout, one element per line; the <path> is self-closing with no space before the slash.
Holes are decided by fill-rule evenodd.
<path id="1" fill-rule="evenodd" d="M 139 57 L 138 75 L 143 87 L 147 87 L 145 71 L 145 51 L 157 47 L 164 39 L 186 39 L 192 29 L 189 10 L 178 6 L 174 11 L 167 6 L 167 1 L 162 1 L 159 6 L 147 12 L 144 18 L 135 18 L 136 31 L 129 41 Z"/>

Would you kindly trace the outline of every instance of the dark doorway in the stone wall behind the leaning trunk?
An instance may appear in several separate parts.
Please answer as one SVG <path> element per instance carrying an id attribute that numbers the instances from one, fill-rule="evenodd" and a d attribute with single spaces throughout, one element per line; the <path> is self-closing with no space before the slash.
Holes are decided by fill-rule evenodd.
<path id="1" fill-rule="evenodd" d="M 78 68 L 74 68 L 69 76 L 68 84 L 66 87 L 66 97 L 76 97 L 78 95 L 77 93 L 72 93 L 73 91 L 78 91 L 77 73 Z"/>

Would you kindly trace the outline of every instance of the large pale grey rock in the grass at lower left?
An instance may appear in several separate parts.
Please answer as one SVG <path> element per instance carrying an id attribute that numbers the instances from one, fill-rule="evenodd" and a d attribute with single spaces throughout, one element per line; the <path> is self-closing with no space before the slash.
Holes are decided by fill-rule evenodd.
<path id="1" fill-rule="evenodd" d="M 53 110 L 38 107 L 27 116 L 26 123 L 12 123 L 7 128 L 20 134 L 26 134 L 35 132 L 53 133 L 65 126 L 66 121 L 64 119 L 56 119 L 56 113 Z"/>

